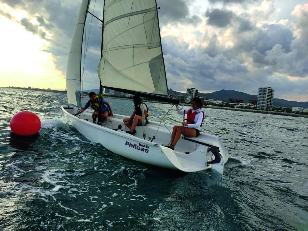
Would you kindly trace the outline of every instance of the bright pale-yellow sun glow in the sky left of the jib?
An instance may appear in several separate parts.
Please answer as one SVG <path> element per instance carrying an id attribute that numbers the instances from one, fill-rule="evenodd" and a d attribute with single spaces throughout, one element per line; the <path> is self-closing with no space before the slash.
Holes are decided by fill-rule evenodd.
<path id="1" fill-rule="evenodd" d="M 65 78 L 56 70 L 54 57 L 43 51 L 49 42 L 26 31 L 23 26 L 0 15 L 2 55 L 0 86 L 36 87 L 64 90 Z"/>

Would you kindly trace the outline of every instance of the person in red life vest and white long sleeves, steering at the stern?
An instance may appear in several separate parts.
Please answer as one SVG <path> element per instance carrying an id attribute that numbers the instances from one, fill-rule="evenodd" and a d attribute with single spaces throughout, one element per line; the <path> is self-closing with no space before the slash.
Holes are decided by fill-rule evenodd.
<path id="1" fill-rule="evenodd" d="M 179 105 L 176 105 L 177 113 L 183 115 L 184 112 L 187 114 L 186 122 L 183 121 L 182 126 L 174 126 L 171 135 L 171 144 L 166 146 L 174 150 L 174 147 L 177 141 L 180 139 L 181 134 L 184 134 L 187 137 L 197 137 L 200 134 L 204 111 L 201 110 L 203 106 L 202 100 L 199 97 L 194 97 L 192 100 L 192 107 L 188 110 L 180 110 Z"/>

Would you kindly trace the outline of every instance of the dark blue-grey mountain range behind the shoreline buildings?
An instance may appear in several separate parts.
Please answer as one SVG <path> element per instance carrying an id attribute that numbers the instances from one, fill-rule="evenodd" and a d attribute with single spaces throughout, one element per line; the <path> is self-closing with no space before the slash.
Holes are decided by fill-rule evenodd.
<path id="1" fill-rule="evenodd" d="M 87 90 L 87 92 L 94 91 L 99 92 L 99 89 Z M 177 92 L 173 90 L 168 90 L 170 95 L 185 95 L 186 93 Z M 235 99 L 244 99 L 245 103 L 249 103 L 250 99 L 258 99 L 257 95 L 249 95 L 241 91 L 234 90 L 220 90 L 214 91 L 212 93 L 200 93 L 199 96 L 208 98 L 208 99 L 221 99 L 222 101 L 228 102 L 229 98 Z M 276 99 L 274 98 L 274 107 L 308 107 L 308 102 L 296 102 L 288 101 L 285 99 Z"/>

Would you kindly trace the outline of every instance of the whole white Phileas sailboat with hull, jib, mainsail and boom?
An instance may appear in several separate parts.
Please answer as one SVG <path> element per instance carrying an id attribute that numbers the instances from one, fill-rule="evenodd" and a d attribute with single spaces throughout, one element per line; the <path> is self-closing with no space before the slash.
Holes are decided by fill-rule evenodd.
<path id="1" fill-rule="evenodd" d="M 173 125 L 160 126 L 149 119 L 131 135 L 121 128 L 127 116 L 114 114 L 102 123 L 92 121 L 92 112 L 75 113 L 81 105 L 81 53 L 83 30 L 90 0 L 82 0 L 74 27 L 67 62 L 67 99 L 62 106 L 71 124 L 92 142 L 110 151 L 161 168 L 196 172 L 213 168 L 223 174 L 228 153 L 221 138 L 200 132 L 194 138 L 183 136 L 175 150 L 163 144 L 171 140 Z M 140 97 L 177 104 L 168 97 L 167 79 L 158 22 L 156 0 L 105 0 L 101 58 L 98 67 L 100 93 L 106 87 Z M 100 117 L 99 117 L 100 118 Z M 146 132 L 144 132 L 146 130 Z M 146 133 L 146 134 L 145 134 Z"/>

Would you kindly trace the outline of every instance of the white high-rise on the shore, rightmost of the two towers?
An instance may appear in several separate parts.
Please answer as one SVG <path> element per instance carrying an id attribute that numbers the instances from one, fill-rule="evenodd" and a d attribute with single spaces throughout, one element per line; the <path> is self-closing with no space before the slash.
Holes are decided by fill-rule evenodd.
<path id="1" fill-rule="evenodd" d="M 259 87 L 258 89 L 258 110 L 272 110 L 274 103 L 274 89 L 271 87 Z"/>

